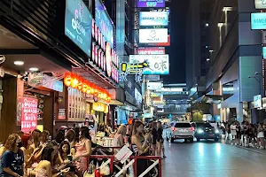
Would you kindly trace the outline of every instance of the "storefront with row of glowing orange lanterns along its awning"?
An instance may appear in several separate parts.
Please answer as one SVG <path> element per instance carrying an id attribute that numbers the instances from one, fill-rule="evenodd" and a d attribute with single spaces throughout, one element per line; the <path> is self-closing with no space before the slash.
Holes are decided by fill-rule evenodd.
<path id="1" fill-rule="evenodd" d="M 106 89 L 85 80 L 76 73 L 65 73 L 65 89 L 59 96 L 59 117 L 56 118 L 55 131 L 61 126 L 82 127 L 86 119 L 95 116 L 98 123 L 107 121 L 111 96 Z"/>

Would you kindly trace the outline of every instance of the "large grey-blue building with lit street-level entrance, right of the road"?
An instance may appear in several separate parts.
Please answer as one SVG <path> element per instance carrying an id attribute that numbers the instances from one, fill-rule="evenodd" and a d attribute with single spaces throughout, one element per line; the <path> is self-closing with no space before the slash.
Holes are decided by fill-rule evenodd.
<path id="1" fill-rule="evenodd" d="M 252 113 L 250 108 L 254 96 L 262 90 L 262 82 L 254 79 L 255 73 L 262 73 L 262 35 L 251 30 L 250 13 L 257 12 L 254 1 L 215 1 L 211 9 L 206 23 L 210 57 L 202 97 L 208 98 L 205 100 L 213 105 L 213 116 L 220 116 L 220 120 L 253 117 L 255 122 L 258 119 L 251 115 L 256 111 Z M 191 76 L 188 81 L 193 79 Z"/>

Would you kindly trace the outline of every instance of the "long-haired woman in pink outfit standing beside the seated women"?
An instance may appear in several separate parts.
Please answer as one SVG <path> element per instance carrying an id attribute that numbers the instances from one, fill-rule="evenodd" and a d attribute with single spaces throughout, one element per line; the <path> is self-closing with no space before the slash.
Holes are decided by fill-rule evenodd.
<path id="1" fill-rule="evenodd" d="M 82 127 L 80 130 L 80 141 L 75 144 L 75 165 L 79 176 L 82 176 L 89 165 L 89 156 L 91 154 L 90 132 L 88 127 Z"/>

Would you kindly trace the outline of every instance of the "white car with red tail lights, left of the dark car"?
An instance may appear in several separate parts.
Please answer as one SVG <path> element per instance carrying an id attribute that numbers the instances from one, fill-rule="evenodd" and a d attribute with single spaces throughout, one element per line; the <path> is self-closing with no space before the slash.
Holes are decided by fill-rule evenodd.
<path id="1" fill-rule="evenodd" d="M 184 139 L 185 142 L 194 142 L 194 127 L 189 122 L 171 123 L 171 142 Z"/>

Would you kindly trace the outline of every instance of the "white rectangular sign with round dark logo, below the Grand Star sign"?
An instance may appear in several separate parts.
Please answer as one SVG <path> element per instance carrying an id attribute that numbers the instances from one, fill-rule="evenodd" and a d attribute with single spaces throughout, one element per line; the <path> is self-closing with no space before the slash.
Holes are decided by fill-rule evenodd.
<path id="1" fill-rule="evenodd" d="M 168 42 L 168 28 L 139 29 L 140 43 Z"/>

